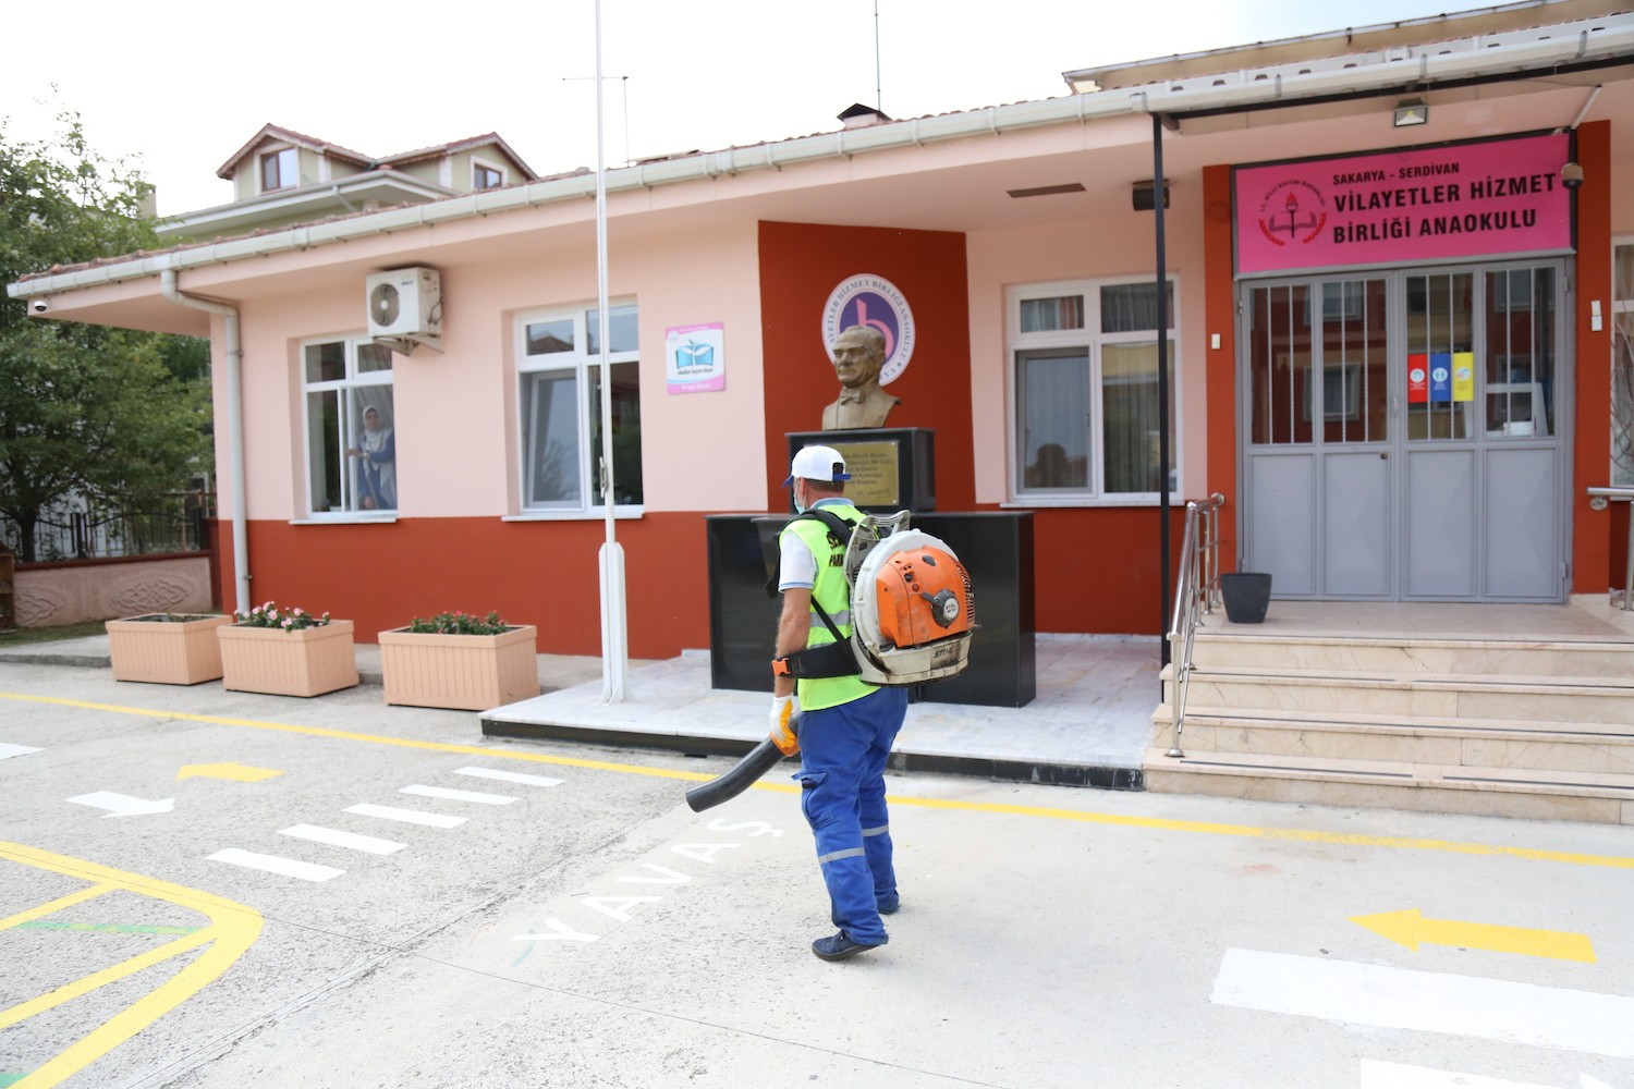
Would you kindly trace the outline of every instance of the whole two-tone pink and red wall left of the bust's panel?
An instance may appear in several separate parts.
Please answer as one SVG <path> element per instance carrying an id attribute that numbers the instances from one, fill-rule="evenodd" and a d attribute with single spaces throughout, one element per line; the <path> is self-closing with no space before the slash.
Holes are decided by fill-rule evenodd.
<path id="1" fill-rule="evenodd" d="M 609 238 L 609 296 L 641 307 L 645 504 L 641 518 L 618 526 L 636 656 L 708 645 L 703 518 L 763 509 L 766 500 L 757 242 L 753 222 L 660 233 L 629 220 Z M 443 351 L 394 358 L 392 521 L 314 519 L 306 500 L 301 346 L 364 331 L 366 271 L 340 289 L 291 276 L 299 291 L 239 304 L 250 598 L 351 619 L 361 642 L 413 616 L 497 609 L 538 624 L 541 651 L 593 655 L 601 518 L 516 518 L 516 317 L 595 305 L 593 238 L 564 232 L 551 245 L 466 253 L 425 261 L 443 274 Z M 381 266 L 404 263 L 413 260 Z M 670 397 L 665 330 L 709 322 L 724 325 L 725 390 Z M 225 390 L 222 366 L 217 356 L 217 389 Z M 225 477 L 224 402 L 216 424 Z M 224 511 L 227 491 L 224 480 Z M 217 586 L 230 606 L 232 536 L 221 536 Z"/>

